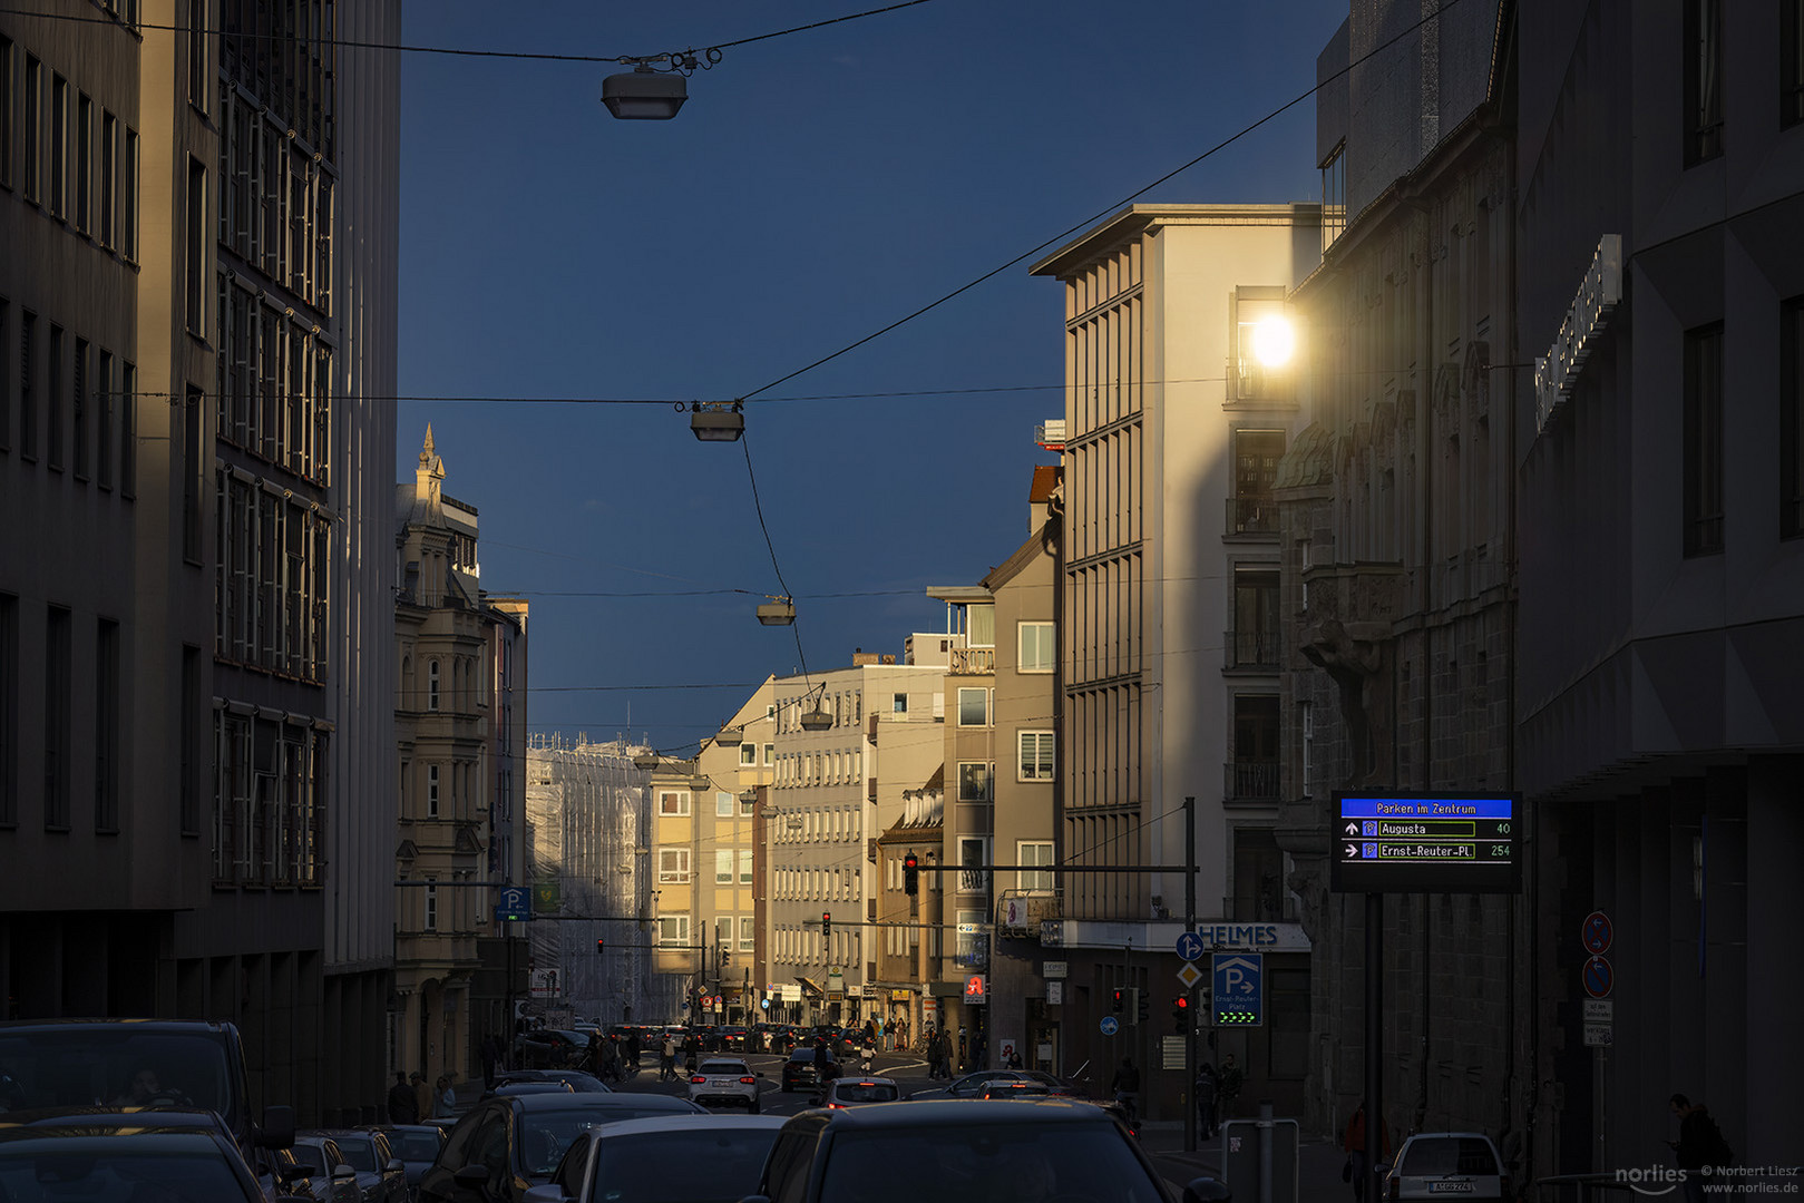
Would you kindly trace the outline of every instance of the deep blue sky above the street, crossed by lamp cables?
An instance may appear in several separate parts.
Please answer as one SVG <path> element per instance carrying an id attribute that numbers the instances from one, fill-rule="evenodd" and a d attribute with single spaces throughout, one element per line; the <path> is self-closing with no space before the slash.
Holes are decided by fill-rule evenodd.
<path id="1" fill-rule="evenodd" d="M 846 0 L 406 5 L 410 45 L 649 56 Z M 530 604 L 536 732 L 693 750 L 769 673 L 902 651 L 1028 536 L 1063 296 L 1003 271 L 1295 99 L 1346 0 L 931 0 L 729 47 L 675 121 L 606 63 L 402 56 L 397 480 L 428 422 Z M 1313 101 L 1140 202 L 1319 200 Z M 756 390 L 756 391 L 754 391 Z M 702 444 L 673 406 L 747 404 Z M 539 404 L 518 399 L 584 399 Z M 658 404 L 612 404 L 619 399 Z M 606 404 L 597 404 L 597 402 Z M 747 451 L 752 473 L 747 473 Z M 785 592 L 797 626 L 752 608 Z M 716 592 L 743 590 L 743 592 Z"/>

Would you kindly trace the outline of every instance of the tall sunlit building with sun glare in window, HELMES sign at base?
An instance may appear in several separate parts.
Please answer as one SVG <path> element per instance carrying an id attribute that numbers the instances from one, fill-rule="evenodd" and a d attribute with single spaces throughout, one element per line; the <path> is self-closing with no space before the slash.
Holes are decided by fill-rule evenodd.
<path id="1" fill-rule="evenodd" d="M 1034 265 L 1064 287 L 1059 923 L 1064 1061 L 1151 1066 L 1182 1118 L 1171 949 L 1194 851 L 1207 943 L 1266 952 L 1268 1017 L 1221 1037 L 1247 1093 L 1301 1102 L 1308 941 L 1283 887 L 1279 528 L 1272 482 L 1295 381 L 1257 354 L 1321 258 L 1321 206 L 1133 206 Z M 1055 734 L 1059 734 L 1055 732 Z M 1185 840 L 1196 799 L 1196 846 Z M 1120 866 L 1111 871 L 1111 866 Z M 1165 866 L 1180 871 L 1151 871 Z M 1140 990 L 1099 1035 L 1117 988 Z M 1156 1001 L 1155 1001 L 1156 999 Z"/>

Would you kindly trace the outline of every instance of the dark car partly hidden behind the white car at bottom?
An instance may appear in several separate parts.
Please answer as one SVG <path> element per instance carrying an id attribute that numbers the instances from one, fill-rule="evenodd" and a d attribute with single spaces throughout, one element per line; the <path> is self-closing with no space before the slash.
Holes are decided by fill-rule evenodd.
<path id="1" fill-rule="evenodd" d="M 687 1098 L 612 1095 L 503 1095 L 471 1107 L 438 1160 L 420 1176 L 426 1203 L 520 1203 L 543 1185 L 577 1136 L 597 1124 L 649 1115 L 707 1115 Z"/>

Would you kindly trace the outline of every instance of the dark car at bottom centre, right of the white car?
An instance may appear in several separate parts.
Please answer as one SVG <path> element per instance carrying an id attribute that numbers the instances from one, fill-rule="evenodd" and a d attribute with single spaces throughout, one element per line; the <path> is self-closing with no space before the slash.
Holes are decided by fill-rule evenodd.
<path id="1" fill-rule="evenodd" d="M 1191 1190 L 1207 1190 L 1203 1181 Z M 758 1190 L 743 1203 L 1167 1198 L 1140 1145 L 1100 1107 L 1041 1098 L 803 1111 L 778 1133 Z"/>

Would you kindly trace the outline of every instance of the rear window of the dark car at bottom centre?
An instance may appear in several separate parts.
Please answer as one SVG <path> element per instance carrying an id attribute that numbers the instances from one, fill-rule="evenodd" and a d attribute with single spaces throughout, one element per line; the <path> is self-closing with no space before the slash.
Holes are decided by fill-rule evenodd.
<path id="1" fill-rule="evenodd" d="M 907 1172 L 898 1174 L 897 1167 Z M 945 1124 L 848 1131 L 826 1154 L 821 1196 L 861 1203 L 1162 1203 L 1113 1125 Z"/>

